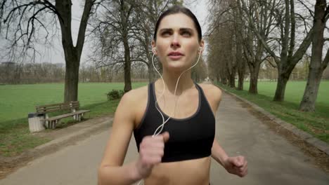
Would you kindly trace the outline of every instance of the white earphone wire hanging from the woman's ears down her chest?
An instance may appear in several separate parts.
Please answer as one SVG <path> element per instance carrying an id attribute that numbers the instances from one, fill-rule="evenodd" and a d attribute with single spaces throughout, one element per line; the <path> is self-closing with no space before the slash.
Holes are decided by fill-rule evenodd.
<path id="1" fill-rule="evenodd" d="M 179 78 L 177 79 L 176 87 L 175 87 L 175 91 L 174 91 L 174 97 L 175 97 L 176 100 L 175 100 L 174 114 L 173 114 L 173 115 L 175 115 L 175 113 L 176 113 L 176 106 L 177 106 L 177 102 L 178 102 L 178 101 L 177 101 L 178 98 L 176 97 L 176 90 L 177 90 L 177 86 L 178 86 L 178 84 L 179 84 L 179 79 L 181 78 L 181 76 L 182 76 L 186 71 L 192 69 L 193 67 L 195 67 L 196 64 L 198 64 L 198 62 L 199 62 L 199 60 L 200 60 L 200 56 L 201 56 L 201 50 L 200 50 L 200 53 L 199 53 L 199 57 L 198 57 L 197 62 L 195 62 L 195 64 L 194 64 L 193 66 L 191 66 L 191 67 L 189 67 L 188 69 L 186 69 L 185 71 L 183 71 L 183 72 L 181 73 L 181 75 L 179 75 Z M 157 71 L 157 68 L 156 68 L 155 65 L 154 65 L 154 57 L 155 57 L 155 52 L 153 53 L 153 56 L 152 56 L 152 64 L 153 64 L 153 67 L 154 67 L 155 71 Z M 157 74 L 160 75 L 160 77 L 161 77 L 161 79 L 162 79 L 162 83 L 163 83 L 163 90 L 162 90 L 162 93 L 161 93 L 161 95 L 160 95 L 160 97 L 162 97 L 162 96 L 164 95 L 164 90 L 165 90 L 165 88 L 166 88 L 166 85 L 165 85 L 165 83 L 164 83 L 164 79 L 162 78 L 162 75 L 160 74 L 159 71 L 157 71 Z M 154 85 L 153 88 L 155 88 L 155 85 Z M 160 99 L 160 97 L 159 97 L 159 99 Z M 165 101 L 164 101 L 164 104 L 165 104 Z M 163 116 L 162 112 L 160 111 L 160 109 L 158 109 L 158 107 L 157 107 L 157 100 L 155 100 L 155 108 L 157 109 L 157 111 L 160 113 L 160 115 L 161 115 L 161 117 L 162 117 L 162 124 L 161 124 L 159 127 L 157 127 L 157 129 L 156 129 L 155 132 L 153 133 L 153 136 L 152 136 L 152 137 L 155 137 L 155 136 L 159 135 L 159 134 L 162 132 L 162 129 L 163 129 L 163 127 L 164 127 L 164 124 L 167 123 L 167 122 L 169 121 L 170 118 L 172 118 L 172 116 L 169 116 L 169 117 L 167 118 L 167 120 L 164 121 L 164 116 Z M 160 130 L 159 132 L 157 132 L 157 130 L 158 130 L 159 128 L 161 128 L 161 130 Z M 138 185 L 140 185 L 142 181 L 143 181 L 143 179 L 141 179 L 141 181 L 139 181 Z"/>

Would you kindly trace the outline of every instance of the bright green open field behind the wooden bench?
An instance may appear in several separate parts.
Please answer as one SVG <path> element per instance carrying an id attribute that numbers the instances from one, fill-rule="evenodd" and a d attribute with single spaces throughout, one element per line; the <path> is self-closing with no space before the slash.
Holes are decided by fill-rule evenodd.
<path id="1" fill-rule="evenodd" d="M 133 88 L 146 83 L 133 83 Z M 124 83 L 79 83 L 78 100 L 82 107 L 106 101 L 112 89 L 123 90 Z M 64 84 L 0 85 L 0 124 L 18 118 L 27 118 L 35 106 L 63 102 Z"/>

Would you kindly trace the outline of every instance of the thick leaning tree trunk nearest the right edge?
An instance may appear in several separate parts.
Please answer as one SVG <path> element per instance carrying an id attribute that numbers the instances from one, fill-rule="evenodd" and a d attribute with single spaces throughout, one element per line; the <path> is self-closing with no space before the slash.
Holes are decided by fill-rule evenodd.
<path id="1" fill-rule="evenodd" d="M 315 111 L 318 87 L 324 70 L 321 62 L 324 43 L 323 32 L 325 29 L 325 0 L 316 1 L 313 27 L 314 36 L 312 41 L 311 64 L 309 65 L 307 86 L 304 91 L 302 102 L 300 102 L 299 105 L 300 111 Z M 324 63 L 326 62 L 325 60 L 323 61 Z"/>

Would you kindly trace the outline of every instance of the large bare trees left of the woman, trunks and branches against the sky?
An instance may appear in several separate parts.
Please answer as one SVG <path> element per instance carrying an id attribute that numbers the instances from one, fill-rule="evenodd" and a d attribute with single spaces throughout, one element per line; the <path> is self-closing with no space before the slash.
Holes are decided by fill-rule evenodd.
<path id="1" fill-rule="evenodd" d="M 157 17 L 178 0 L 85 0 L 77 41 L 72 39 L 71 0 L 1 0 L 0 34 L 8 40 L 7 57 L 17 60 L 37 53 L 36 43 L 49 43 L 60 30 L 65 55 L 64 101 L 77 100 L 79 65 L 87 25 L 94 38 L 91 60 L 97 67 L 124 67 L 124 91 L 131 90 L 131 64 L 146 64 L 153 78 L 150 43 Z M 59 26 L 58 26 L 59 25 Z M 59 27 L 59 28 L 58 28 Z"/>

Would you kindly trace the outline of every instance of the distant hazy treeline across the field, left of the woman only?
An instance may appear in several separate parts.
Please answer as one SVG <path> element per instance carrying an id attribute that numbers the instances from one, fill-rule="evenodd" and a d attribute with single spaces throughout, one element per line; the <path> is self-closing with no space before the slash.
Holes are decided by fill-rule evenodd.
<path id="1" fill-rule="evenodd" d="M 205 69 L 202 68 L 202 69 Z M 200 79 L 201 69 L 195 74 Z M 200 72 L 199 72 L 200 71 Z M 205 76 L 203 73 L 202 78 Z M 65 81 L 65 65 L 62 63 L 15 63 L 0 64 L 0 84 L 30 84 L 30 83 L 63 83 Z M 124 69 L 116 67 L 99 67 L 94 64 L 82 63 L 79 67 L 79 82 L 122 82 Z M 148 69 L 141 64 L 131 66 L 131 81 L 148 81 Z"/>

